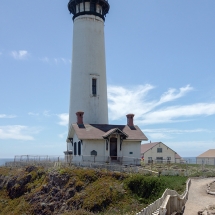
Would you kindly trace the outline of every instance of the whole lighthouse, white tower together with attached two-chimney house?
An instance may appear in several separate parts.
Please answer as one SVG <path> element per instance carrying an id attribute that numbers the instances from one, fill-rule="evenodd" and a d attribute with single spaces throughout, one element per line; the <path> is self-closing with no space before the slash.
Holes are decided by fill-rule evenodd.
<path id="1" fill-rule="evenodd" d="M 142 140 L 147 137 L 134 125 L 108 124 L 104 22 L 107 0 L 70 0 L 73 14 L 73 49 L 69 108 L 69 131 L 65 160 L 137 164 Z M 137 158 L 137 159 L 134 159 Z"/>

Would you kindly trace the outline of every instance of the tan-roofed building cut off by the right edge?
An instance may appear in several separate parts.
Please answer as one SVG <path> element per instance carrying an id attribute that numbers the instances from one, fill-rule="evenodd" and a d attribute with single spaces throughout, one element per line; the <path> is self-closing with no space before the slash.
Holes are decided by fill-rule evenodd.
<path id="1" fill-rule="evenodd" d="M 197 164 L 215 165 L 215 149 L 209 149 L 196 158 Z"/>

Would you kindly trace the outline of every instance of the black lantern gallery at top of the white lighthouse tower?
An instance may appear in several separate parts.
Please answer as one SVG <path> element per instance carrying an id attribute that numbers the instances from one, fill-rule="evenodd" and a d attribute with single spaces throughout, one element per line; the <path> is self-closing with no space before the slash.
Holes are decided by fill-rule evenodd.
<path id="1" fill-rule="evenodd" d="M 68 9 L 73 14 L 73 20 L 80 15 L 95 15 L 105 20 L 110 9 L 108 0 L 70 0 Z"/>

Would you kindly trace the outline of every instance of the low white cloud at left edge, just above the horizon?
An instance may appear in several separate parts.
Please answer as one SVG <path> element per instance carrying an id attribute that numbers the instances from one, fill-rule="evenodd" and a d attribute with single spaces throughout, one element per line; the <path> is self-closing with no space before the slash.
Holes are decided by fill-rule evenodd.
<path id="1" fill-rule="evenodd" d="M 32 134 L 37 132 L 22 125 L 0 126 L 0 139 L 34 140 Z"/>

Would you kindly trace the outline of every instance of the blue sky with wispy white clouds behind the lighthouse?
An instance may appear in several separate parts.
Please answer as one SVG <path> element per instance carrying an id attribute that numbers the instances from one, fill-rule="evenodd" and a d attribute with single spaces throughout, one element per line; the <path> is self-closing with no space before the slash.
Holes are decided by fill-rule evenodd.
<path id="1" fill-rule="evenodd" d="M 0 1 L 0 158 L 66 150 L 68 0 Z M 182 157 L 215 148 L 215 1 L 109 0 L 110 124 L 134 123 Z M 145 142 L 143 142 L 145 143 Z"/>

